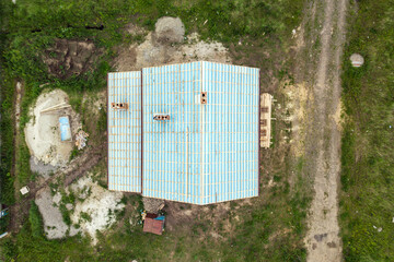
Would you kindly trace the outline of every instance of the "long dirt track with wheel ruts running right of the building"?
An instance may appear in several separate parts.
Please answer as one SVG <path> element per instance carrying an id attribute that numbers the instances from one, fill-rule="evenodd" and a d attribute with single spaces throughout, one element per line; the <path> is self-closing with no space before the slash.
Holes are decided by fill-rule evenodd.
<path id="1" fill-rule="evenodd" d="M 308 261 L 341 261 L 338 226 L 340 171 L 340 63 L 345 43 L 347 0 L 315 0 L 303 22 L 304 72 L 313 99 L 309 102 L 305 133 L 305 172 L 314 196 L 308 216 Z M 308 25 L 308 26 L 306 26 Z M 311 59 L 312 58 L 312 59 Z M 308 70 L 312 69 L 312 70 Z M 299 73 L 300 74 L 300 73 Z"/>

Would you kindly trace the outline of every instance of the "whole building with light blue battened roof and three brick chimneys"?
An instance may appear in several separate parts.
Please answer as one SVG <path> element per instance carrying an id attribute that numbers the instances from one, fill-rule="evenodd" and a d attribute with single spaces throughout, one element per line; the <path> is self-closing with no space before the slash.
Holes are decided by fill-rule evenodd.
<path id="1" fill-rule="evenodd" d="M 210 204 L 258 195 L 259 69 L 108 74 L 108 188 Z"/>

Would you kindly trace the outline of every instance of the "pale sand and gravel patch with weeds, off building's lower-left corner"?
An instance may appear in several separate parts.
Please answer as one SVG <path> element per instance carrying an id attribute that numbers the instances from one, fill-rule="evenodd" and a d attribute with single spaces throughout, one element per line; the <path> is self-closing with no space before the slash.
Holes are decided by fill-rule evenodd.
<path id="1" fill-rule="evenodd" d="M 78 233 L 88 234 L 95 245 L 96 230 L 103 231 L 112 226 L 116 222 L 115 212 L 125 207 L 120 203 L 123 193 L 103 189 L 92 181 L 90 174 L 66 188 L 67 194 L 71 191 L 77 200 L 74 204 L 66 204 L 73 224 L 70 227 L 65 224 L 59 210 L 60 192 L 51 195 L 48 188 L 37 192 L 35 202 L 43 215 L 45 234 L 49 239 L 74 236 Z"/>

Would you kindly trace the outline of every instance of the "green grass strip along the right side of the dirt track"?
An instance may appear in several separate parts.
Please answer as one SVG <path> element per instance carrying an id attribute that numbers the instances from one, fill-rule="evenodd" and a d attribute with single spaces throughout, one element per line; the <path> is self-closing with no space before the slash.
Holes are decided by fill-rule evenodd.
<path id="1" fill-rule="evenodd" d="M 341 144 L 344 257 L 346 261 L 393 261 L 394 1 L 358 4 L 343 74 L 347 115 Z M 361 68 L 350 66 L 354 52 L 364 57 Z"/>

